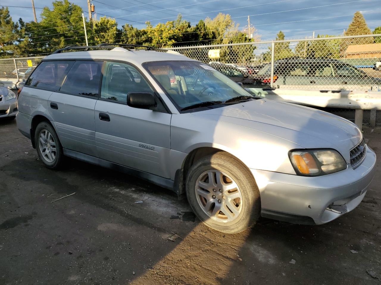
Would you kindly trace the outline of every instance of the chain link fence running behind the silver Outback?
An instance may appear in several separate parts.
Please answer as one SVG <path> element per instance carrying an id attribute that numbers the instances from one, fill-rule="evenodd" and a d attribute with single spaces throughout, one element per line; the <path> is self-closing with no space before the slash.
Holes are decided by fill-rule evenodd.
<path id="1" fill-rule="evenodd" d="M 381 89 L 379 34 L 168 49 L 208 63 L 237 82 L 242 79 L 247 87 L 362 92 Z M 0 78 L 24 81 L 42 59 L 1 59 Z M 354 109 L 327 110 L 354 119 Z M 372 114 L 376 124 L 381 125 L 381 111 Z M 370 124 L 372 116 L 365 111 L 364 124 Z"/>

